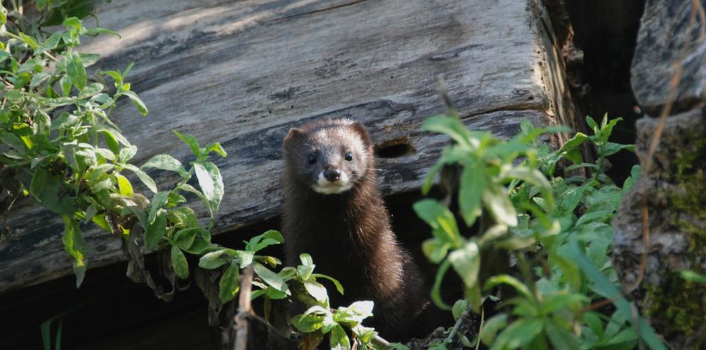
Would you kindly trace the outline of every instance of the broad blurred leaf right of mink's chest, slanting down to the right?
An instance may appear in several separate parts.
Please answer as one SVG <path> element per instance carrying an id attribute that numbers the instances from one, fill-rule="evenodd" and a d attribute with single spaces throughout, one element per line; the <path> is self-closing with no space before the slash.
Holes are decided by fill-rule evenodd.
<path id="1" fill-rule="evenodd" d="M 441 242 L 449 243 L 454 248 L 461 247 L 459 227 L 449 208 L 436 200 L 420 200 L 414 203 L 414 212 L 434 229 L 432 232 L 434 237 Z"/>

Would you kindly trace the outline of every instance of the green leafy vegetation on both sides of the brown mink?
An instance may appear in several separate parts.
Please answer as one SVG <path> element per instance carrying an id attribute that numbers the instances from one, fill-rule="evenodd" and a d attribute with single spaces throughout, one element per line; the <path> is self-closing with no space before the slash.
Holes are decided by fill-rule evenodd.
<path id="1" fill-rule="evenodd" d="M 73 260 L 77 286 L 90 263 L 79 223 L 93 222 L 123 241 L 131 259 L 128 274 L 155 292 L 155 282 L 144 267 L 145 253 L 157 251 L 168 258 L 165 276 L 172 284 L 177 278 L 189 278 L 196 267 L 188 266 L 186 254 L 194 254 L 199 257 L 198 268 L 219 274 L 213 289 L 217 295 L 206 295 L 216 312 L 237 297 L 241 285 L 250 289 L 252 283 L 251 298 L 264 299 L 265 314 L 264 319 L 250 321 L 282 324 L 274 320 L 284 319 L 292 329 L 280 331 L 287 336 L 298 332 L 305 349 L 313 349 L 324 334 L 329 334 L 332 349 L 351 349 L 354 343 L 362 349 L 405 348 L 387 344 L 374 329 L 363 326 L 374 313 L 372 302 L 332 309 L 329 290 L 344 292 L 346 286 L 315 273 L 307 254 L 302 254 L 299 266 L 284 268 L 276 257 L 258 254 L 282 243 L 279 232 L 252 237 L 240 249 L 211 242 L 213 215 L 225 189 L 209 158 L 213 153 L 225 157 L 225 150 L 218 143 L 202 147 L 193 136 L 174 130 L 175 138 L 192 150 L 193 162 L 184 165 L 170 155 L 156 155 L 139 167 L 131 163 L 138 150 L 110 119 L 123 97 L 138 113 L 148 114 L 126 80 L 131 66 L 123 71 L 91 71 L 98 56 L 76 51 L 81 36 L 117 34 L 84 26 L 91 1 L 36 1 L 34 9 L 33 16 L 26 16 L 16 1 L 0 8 L 0 181 L 9 192 L 2 209 L 29 196 L 63 218 L 63 244 Z M 61 29 L 46 31 L 55 25 Z M 550 150 L 543 140 L 548 133 L 566 132 L 564 128 L 535 128 L 523 122 L 515 138 L 499 140 L 487 132 L 467 130 L 452 108 L 424 123 L 424 130 L 453 140 L 431 169 L 424 192 L 440 172 L 455 173 L 444 178 L 457 184 L 444 187 L 458 185 L 452 209 L 431 199 L 414 205 L 431 227 L 431 238 L 422 249 L 439 264 L 431 298 L 451 310 L 459 324 L 472 323 L 471 314 L 481 319 L 478 329 L 459 331 L 457 324 L 427 346 L 633 349 L 641 342 L 664 349 L 620 294 L 608 258 L 610 220 L 620 197 L 639 176 L 636 167 L 618 186 L 605 175 L 605 157 L 631 149 L 608 142 L 619 120 L 605 116 L 599 124 L 587 118 L 593 135 L 576 133 L 558 150 Z M 595 163 L 584 163 L 579 147 L 585 143 L 595 146 Z M 145 173 L 151 168 L 174 172 L 180 181 L 170 188 L 156 184 Z M 136 190 L 135 181 L 148 195 Z M 210 220 L 205 225 L 186 204 L 188 195 L 200 198 L 208 208 Z M 490 250 L 508 254 L 508 269 L 480 277 L 481 256 Z M 450 268 L 464 283 L 464 299 L 453 307 L 441 299 L 440 291 Z M 511 292 L 498 294 L 502 285 Z M 171 296 L 158 293 L 158 297 Z M 294 301 L 303 303 L 306 311 L 292 316 L 281 311 L 286 307 L 277 307 Z M 493 316 L 485 319 L 486 314 Z M 48 344 L 48 332 L 45 338 Z"/>

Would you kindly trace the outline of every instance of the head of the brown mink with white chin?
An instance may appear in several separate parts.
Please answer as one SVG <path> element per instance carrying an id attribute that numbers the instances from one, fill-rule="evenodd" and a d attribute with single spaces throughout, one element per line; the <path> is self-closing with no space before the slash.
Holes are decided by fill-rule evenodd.
<path id="1" fill-rule="evenodd" d="M 350 190 L 374 166 L 367 130 L 347 119 L 290 129 L 284 153 L 287 180 L 324 195 Z"/>

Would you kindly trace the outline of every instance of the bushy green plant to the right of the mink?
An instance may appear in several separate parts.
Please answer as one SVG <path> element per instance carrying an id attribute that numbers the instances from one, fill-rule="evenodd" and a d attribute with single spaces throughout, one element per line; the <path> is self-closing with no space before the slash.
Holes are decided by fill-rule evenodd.
<path id="1" fill-rule="evenodd" d="M 479 217 L 483 222 L 479 235 L 462 235 L 454 213 L 445 205 L 436 200 L 414 205 L 432 229 L 433 238 L 424 242 L 424 253 L 440 264 L 432 299 L 450 309 L 439 293 L 450 267 L 463 280 L 466 296 L 454 306 L 456 317 L 466 305 L 480 314 L 487 298 L 496 299 L 492 292 L 496 286 L 511 287 L 515 294 L 484 321 L 473 342 L 461 341 L 480 341 L 490 349 L 633 349 L 642 341 L 652 349 L 665 349 L 652 327 L 641 316 L 633 316 L 608 258 L 610 220 L 623 193 L 639 176 L 635 166 L 621 188 L 604 173 L 605 157 L 634 148 L 608 142 L 620 118 L 608 121 L 605 115 L 598 125 L 588 117 L 593 135 L 576 133 L 558 150 L 549 150 L 538 143 L 538 136 L 562 128 L 535 128 L 524 120 L 522 132 L 503 141 L 487 132 L 467 130 L 453 110 L 450 114 L 429 118 L 422 126 L 454 140 L 431 169 L 423 190 L 429 190 L 434 175 L 444 167 L 459 165 L 459 216 L 466 227 Z M 578 148 L 583 143 L 595 145 L 595 163 L 583 162 Z M 563 159 L 571 164 L 563 173 L 587 168 L 592 175 L 556 175 Z M 509 252 L 516 274 L 480 281 L 481 253 L 486 249 Z M 601 314 L 591 306 L 601 298 L 614 305 L 612 314 Z M 445 349 L 444 344 L 453 340 L 434 346 Z"/>

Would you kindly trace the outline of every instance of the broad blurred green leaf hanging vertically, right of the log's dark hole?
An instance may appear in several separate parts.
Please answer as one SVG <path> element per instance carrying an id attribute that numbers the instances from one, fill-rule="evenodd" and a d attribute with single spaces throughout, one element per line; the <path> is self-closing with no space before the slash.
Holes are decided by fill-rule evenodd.
<path id="1" fill-rule="evenodd" d="M 468 227 L 471 227 L 481 215 L 481 200 L 485 187 L 486 176 L 483 168 L 476 162 L 465 164 L 459 184 L 459 206 Z"/>

